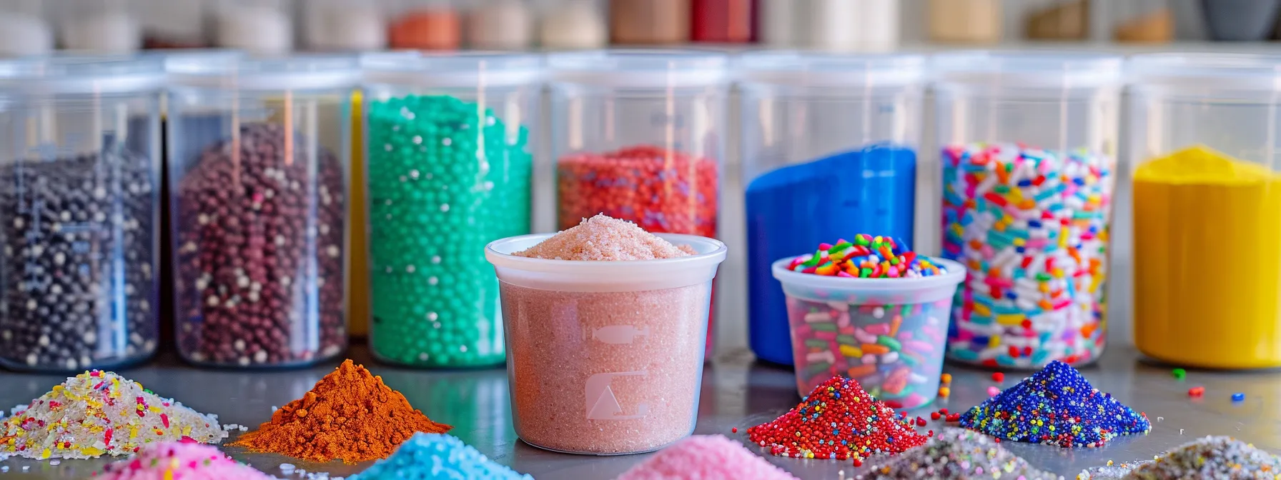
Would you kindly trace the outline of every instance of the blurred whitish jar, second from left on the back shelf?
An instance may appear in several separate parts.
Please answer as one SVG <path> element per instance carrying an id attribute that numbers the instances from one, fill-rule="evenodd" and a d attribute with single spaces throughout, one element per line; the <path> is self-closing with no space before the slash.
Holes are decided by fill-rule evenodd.
<path id="1" fill-rule="evenodd" d="M 142 47 L 142 23 L 129 0 L 77 0 L 56 4 L 58 37 L 64 49 L 96 54 L 129 54 Z"/>

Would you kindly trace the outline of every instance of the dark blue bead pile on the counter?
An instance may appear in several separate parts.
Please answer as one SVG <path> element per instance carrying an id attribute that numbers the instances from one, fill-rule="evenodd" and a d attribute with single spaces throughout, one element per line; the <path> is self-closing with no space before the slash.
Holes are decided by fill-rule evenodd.
<path id="1" fill-rule="evenodd" d="M 1148 416 L 1053 361 L 1017 385 L 970 408 L 961 426 L 1002 440 L 1065 448 L 1102 447 L 1117 435 L 1148 433 Z"/>

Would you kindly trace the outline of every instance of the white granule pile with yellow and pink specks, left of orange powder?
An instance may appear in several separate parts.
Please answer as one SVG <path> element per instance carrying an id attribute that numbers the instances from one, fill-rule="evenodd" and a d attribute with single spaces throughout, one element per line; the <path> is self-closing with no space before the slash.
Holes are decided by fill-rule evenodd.
<path id="1" fill-rule="evenodd" d="M 216 415 L 204 415 L 110 371 L 67 379 L 0 421 L 0 454 L 24 458 L 122 456 L 152 442 L 227 436 Z"/>

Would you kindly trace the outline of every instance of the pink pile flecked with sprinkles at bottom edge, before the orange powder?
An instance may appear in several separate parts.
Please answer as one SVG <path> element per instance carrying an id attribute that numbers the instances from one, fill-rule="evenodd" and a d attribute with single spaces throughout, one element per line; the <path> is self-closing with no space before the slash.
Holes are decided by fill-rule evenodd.
<path id="1" fill-rule="evenodd" d="M 94 480 L 270 480 L 252 467 L 228 458 L 218 448 L 193 442 L 160 442 L 137 456 L 108 465 Z"/>

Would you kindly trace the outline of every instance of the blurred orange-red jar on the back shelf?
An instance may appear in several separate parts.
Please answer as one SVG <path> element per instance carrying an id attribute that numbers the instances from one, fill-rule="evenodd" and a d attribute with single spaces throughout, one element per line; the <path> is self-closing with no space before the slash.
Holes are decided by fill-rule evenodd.
<path id="1" fill-rule="evenodd" d="M 459 10 L 451 0 L 398 0 L 388 12 L 392 49 L 457 50 L 462 42 Z"/>

